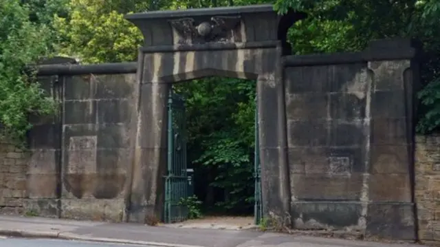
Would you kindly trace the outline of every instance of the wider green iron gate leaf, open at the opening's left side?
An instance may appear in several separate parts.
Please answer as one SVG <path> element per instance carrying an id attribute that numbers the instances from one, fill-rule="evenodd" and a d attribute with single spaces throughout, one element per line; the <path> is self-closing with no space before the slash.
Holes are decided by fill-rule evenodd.
<path id="1" fill-rule="evenodd" d="M 185 101 L 170 89 L 168 94 L 168 158 L 165 176 L 164 222 L 174 223 L 187 219 L 188 209 L 179 204 L 188 197 L 186 173 Z"/>

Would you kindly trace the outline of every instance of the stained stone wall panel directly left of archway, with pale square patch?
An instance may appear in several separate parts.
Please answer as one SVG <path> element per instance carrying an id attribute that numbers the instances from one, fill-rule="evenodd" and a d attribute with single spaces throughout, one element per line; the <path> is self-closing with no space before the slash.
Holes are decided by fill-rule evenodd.
<path id="1" fill-rule="evenodd" d="M 135 74 L 65 81 L 61 217 L 121 221 L 135 140 Z"/>

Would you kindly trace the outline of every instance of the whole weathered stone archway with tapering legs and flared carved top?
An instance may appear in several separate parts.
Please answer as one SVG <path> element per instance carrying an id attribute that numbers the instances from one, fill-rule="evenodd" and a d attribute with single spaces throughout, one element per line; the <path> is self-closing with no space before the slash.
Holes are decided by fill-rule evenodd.
<path id="1" fill-rule="evenodd" d="M 162 214 L 170 85 L 214 75 L 257 80 L 264 214 L 290 211 L 282 56 L 287 28 L 303 17 L 290 13 L 282 18 L 270 5 L 126 17 L 144 35 L 137 69 L 140 100 L 130 221 Z"/>

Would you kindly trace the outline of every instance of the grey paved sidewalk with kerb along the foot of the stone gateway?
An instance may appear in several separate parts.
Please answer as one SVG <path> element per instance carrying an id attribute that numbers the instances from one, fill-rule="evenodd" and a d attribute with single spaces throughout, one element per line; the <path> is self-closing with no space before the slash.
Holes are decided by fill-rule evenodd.
<path id="1" fill-rule="evenodd" d="M 12 216 L 0 216 L 0 235 L 164 247 L 420 247 L 417 244 L 381 244 L 369 241 L 261 233 L 255 230 L 167 228 L 128 223 L 79 222 Z"/>

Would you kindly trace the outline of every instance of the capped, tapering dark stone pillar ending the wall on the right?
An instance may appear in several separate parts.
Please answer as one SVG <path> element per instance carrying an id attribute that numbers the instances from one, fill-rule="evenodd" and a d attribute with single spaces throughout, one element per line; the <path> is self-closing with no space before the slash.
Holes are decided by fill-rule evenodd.
<path id="1" fill-rule="evenodd" d="M 367 50 L 373 80 L 367 235 L 416 239 L 412 176 L 418 66 L 411 60 L 417 52 L 413 47 L 410 40 L 397 39 L 372 42 Z"/>

